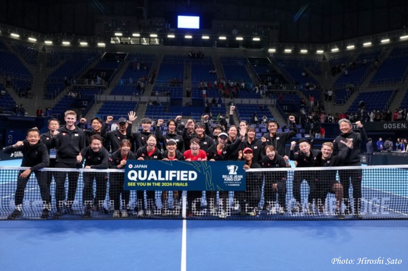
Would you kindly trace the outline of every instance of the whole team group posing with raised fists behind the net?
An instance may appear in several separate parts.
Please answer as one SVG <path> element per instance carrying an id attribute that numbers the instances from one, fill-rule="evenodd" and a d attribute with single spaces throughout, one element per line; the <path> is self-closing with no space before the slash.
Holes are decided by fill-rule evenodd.
<path id="1" fill-rule="evenodd" d="M 4 153 L 22 151 L 22 167 L 18 176 L 15 194 L 15 210 L 8 216 L 16 219 L 23 215 L 22 202 L 24 189 L 31 173 L 40 187 L 43 201 L 42 219 L 51 216 L 51 182 L 55 180 L 55 212 L 53 218 L 58 219 L 65 214 L 73 214 L 75 196 L 77 195 L 78 170 L 40 170 L 41 168 L 84 168 L 82 205 L 83 218 L 90 218 L 93 212 L 108 214 L 105 206 L 111 205 L 114 218 L 126 218 L 131 215 L 130 192 L 124 190 L 124 171 L 113 170 L 107 174 L 100 169 L 124 169 L 129 160 L 166 160 L 166 161 L 244 161 L 244 169 L 250 168 L 290 168 L 289 159 L 295 161 L 297 167 L 314 166 L 358 166 L 360 165 L 361 141 L 367 140 L 366 132 L 360 122 L 356 125 L 360 132 L 353 132 L 350 121 L 340 120 L 341 135 L 335 141 L 326 142 L 321 150 L 310 149 L 308 140 L 291 142 L 290 151 L 286 153 L 286 142 L 297 134 L 295 118 L 289 117 L 290 131 L 277 132 L 275 120 L 268 121 L 268 133 L 262 138 L 255 136 L 255 127 L 245 121 L 235 125 L 233 120 L 235 107 L 230 108 L 230 125 L 227 130 L 221 125 L 211 127 L 208 116 L 203 122 L 188 119 L 181 122 L 181 116 L 166 122 L 167 131 L 163 132 L 164 120 L 157 120 L 152 127 L 149 118 L 140 121 L 142 131 L 132 132 L 136 114 L 130 111 L 128 119 L 118 119 L 118 130 L 108 131 L 109 123 L 113 121 L 108 116 L 105 121 L 95 117 L 91 120 L 92 129 L 80 129 L 78 126 L 86 123 L 80 119 L 77 123 L 75 111 L 66 111 L 65 124 L 60 126 L 56 119 L 48 121 L 46 133 L 40 134 L 38 129 L 29 129 L 26 140 L 4 149 Z M 354 214 L 360 217 L 361 201 L 361 170 L 339 170 L 340 182 L 336 181 L 337 170 L 295 170 L 293 174 L 293 198 L 295 205 L 291 212 L 303 212 L 301 199 L 301 183 L 307 181 L 309 186 L 308 214 L 324 212 L 328 193 L 335 193 L 336 215 L 344 218 L 344 214 Z M 65 182 L 68 179 L 68 192 Z M 264 196 L 263 210 L 268 213 L 284 214 L 288 212 L 286 202 L 286 170 L 249 170 L 246 173 L 246 191 L 235 192 L 233 205 L 230 206 L 228 191 L 220 191 L 217 201 L 217 191 L 206 191 L 207 210 L 210 215 L 221 218 L 236 210 L 241 215 L 259 215 L 259 205 Z M 95 193 L 93 191 L 95 181 Z M 107 184 L 109 181 L 109 202 L 106 201 Z M 349 187 L 353 185 L 354 204 L 350 204 Z M 173 201 L 169 203 L 169 192 L 161 192 L 161 208 L 157 208 L 155 191 L 137 191 L 135 214 L 138 217 L 160 214 L 179 214 L 182 191 L 173 191 Z M 202 191 L 187 191 L 187 216 L 196 216 L 200 212 Z M 313 204 L 314 203 L 314 204 Z M 342 210 L 341 203 L 344 203 Z M 172 210 L 170 210 L 170 204 Z M 133 206 L 132 206 L 133 207 Z M 351 208 L 354 207 L 354 212 Z"/>

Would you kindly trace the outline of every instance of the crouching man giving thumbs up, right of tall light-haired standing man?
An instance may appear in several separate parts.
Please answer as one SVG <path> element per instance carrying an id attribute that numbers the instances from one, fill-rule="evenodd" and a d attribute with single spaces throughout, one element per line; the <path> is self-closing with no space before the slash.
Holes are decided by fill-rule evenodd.
<path id="1" fill-rule="evenodd" d="M 84 189 L 82 192 L 82 203 L 84 204 L 85 212 L 83 218 L 91 217 L 91 205 L 103 214 L 108 211 L 103 207 L 106 198 L 106 172 L 86 172 L 86 169 L 106 169 L 109 168 L 109 152 L 102 146 L 102 137 L 93 135 L 89 139 L 90 146 L 82 149 L 76 157 L 77 167 L 82 168 L 82 163 L 85 161 Z M 95 198 L 93 197 L 93 179 L 95 179 L 96 191 Z"/>

